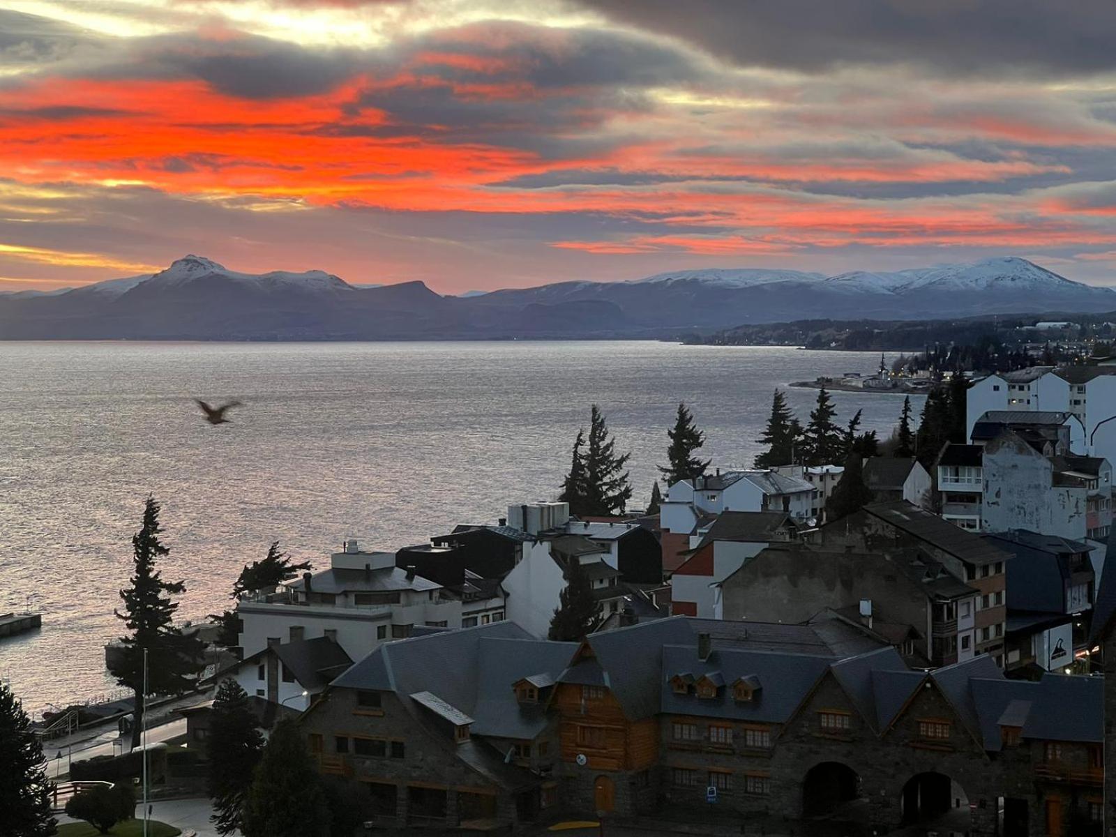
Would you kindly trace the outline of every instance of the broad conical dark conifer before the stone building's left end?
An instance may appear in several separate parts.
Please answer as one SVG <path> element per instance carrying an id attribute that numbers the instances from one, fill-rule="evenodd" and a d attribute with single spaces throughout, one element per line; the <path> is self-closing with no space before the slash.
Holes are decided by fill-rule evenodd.
<path id="1" fill-rule="evenodd" d="M 244 800 L 244 837 L 329 837 L 330 812 L 321 776 L 298 725 L 276 724 Z"/>

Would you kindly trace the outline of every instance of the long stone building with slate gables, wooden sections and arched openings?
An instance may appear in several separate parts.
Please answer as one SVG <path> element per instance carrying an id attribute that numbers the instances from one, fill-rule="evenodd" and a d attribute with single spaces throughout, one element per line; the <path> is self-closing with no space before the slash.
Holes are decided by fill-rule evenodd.
<path id="1" fill-rule="evenodd" d="M 891 647 L 759 651 L 747 624 L 701 626 L 568 644 L 503 624 L 391 643 L 302 729 L 323 772 L 364 786 L 369 818 L 397 826 L 696 818 L 715 799 L 741 821 L 1099 835 L 1100 679 L 1009 681 L 988 655 L 927 672 Z"/>

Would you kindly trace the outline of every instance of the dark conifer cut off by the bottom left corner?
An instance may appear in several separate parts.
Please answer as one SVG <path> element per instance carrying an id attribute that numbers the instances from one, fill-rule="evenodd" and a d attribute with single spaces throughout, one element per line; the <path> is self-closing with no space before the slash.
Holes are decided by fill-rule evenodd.
<path id="1" fill-rule="evenodd" d="M 22 704 L 0 681 L 0 837 L 47 837 L 50 816 L 42 745 Z"/>

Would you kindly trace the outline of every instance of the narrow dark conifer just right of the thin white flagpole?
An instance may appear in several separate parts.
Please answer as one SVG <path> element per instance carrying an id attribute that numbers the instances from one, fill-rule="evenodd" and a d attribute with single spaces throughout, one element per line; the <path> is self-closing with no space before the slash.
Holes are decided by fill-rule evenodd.
<path id="1" fill-rule="evenodd" d="M 210 821 L 218 834 L 240 828 L 252 771 L 263 753 L 258 723 L 248 693 L 232 677 L 222 681 L 213 699 L 206 739 L 209 795 L 213 800 Z"/>

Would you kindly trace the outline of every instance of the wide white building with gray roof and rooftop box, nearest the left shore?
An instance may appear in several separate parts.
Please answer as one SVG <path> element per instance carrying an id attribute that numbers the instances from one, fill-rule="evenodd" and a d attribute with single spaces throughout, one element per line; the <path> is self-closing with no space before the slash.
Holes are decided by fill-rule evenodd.
<path id="1" fill-rule="evenodd" d="M 344 552 L 330 556 L 329 569 L 307 573 L 275 593 L 242 598 L 237 615 L 244 656 L 277 642 L 325 636 L 353 660 L 362 660 L 386 639 L 410 636 L 415 625 L 459 628 L 466 618 L 498 622 L 504 618 L 504 595 L 497 586 L 488 599 L 466 604 L 441 585 L 396 567 L 394 554 L 364 552 L 349 540 Z"/>

